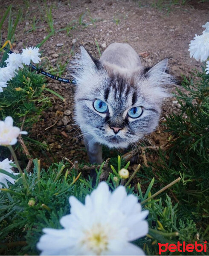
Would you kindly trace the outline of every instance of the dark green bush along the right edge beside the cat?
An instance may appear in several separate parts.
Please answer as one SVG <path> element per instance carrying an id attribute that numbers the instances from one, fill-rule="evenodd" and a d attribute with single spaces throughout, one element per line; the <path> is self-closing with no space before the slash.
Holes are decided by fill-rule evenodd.
<path id="1" fill-rule="evenodd" d="M 179 202 L 175 213 L 178 224 L 170 216 L 173 228 L 169 225 L 166 230 L 178 230 L 181 241 L 192 243 L 207 240 L 209 230 L 209 76 L 204 70 L 205 67 L 203 73 L 193 74 L 195 80 L 184 78 L 183 88 L 177 89 L 175 96 L 181 105 L 180 112 L 171 114 L 165 123 L 166 131 L 171 133 L 170 147 L 160 150 L 158 162 L 152 163 L 152 168 L 143 168 L 143 173 L 138 175 L 146 183 L 143 180 L 149 180 L 154 170 L 158 177 L 154 191 L 181 177 L 171 188 L 172 198 Z"/>

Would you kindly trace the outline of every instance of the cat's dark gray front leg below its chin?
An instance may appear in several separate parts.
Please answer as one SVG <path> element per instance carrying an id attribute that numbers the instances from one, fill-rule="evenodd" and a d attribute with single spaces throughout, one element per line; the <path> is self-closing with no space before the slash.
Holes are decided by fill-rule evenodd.
<path id="1" fill-rule="evenodd" d="M 102 145 L 97 143 L 91 135 L 84 136 L 84 144 L 90 163 L 102 163 Z"/>

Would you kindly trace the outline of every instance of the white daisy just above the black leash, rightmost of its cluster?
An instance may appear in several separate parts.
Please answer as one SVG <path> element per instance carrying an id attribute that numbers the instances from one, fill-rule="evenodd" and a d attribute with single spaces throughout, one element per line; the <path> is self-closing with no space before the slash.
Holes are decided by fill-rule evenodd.
<path id="1" fill-rule="evenodd" d="M 38 63 L 41 61 L 41 59 L 38 57 L 39 55 L 41 55 L 41 53 L 38 52 L 39 48 L 37 47 L 29 47 L 26 49 L 23 49 L 23 52 L 21 54 L 22 56 L 22 62 L 26 65 L 30 64 L 30 61 L 32 61 L 33 63 Z"/>

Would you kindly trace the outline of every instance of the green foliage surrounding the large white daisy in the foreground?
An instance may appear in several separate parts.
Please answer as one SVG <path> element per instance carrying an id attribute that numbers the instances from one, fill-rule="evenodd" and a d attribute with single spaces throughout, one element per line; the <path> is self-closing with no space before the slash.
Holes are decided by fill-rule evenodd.
<path id="1" fill-rule="evenodd" d="M 113 168 L 116 170 L 119 164 L 120 157 L 118 166 Z M 37 255 L 36 244 L 42 229 L 61 228 L 60 218 L 70 213 L 68 198 L 73 195 L 84 203 L 86 195 L 98 186 L 103 166 L 104 163 L 96 170 L 96 184 L 93 185 L 91 177 L 89 180 L 80 177 L 75 169 L 69 169 L 68 163 L 52 164 L 48 170 L 41 170 L 40 162 L 34 160 L 32 174 L 25 172 L 28 188 L 22 186 L 22 178 L 16 176 L 15 185 L 0 192 L 0 252 L 5 255 Z M 112 190 L 118 186 L 110 176 L 107 183 Z M 194 222 L 178 220 L 177 204 L 173 205 L 168 195 L 164 200 L 150 198 L 153 184 L 154 178 L 144 194 L 139 184 L 138 191 L 131 185 L 126 188 L 128 194 L 136 195 L 142 207 L 149 210 L 149 233 L 135 244 L 144 248 L 146 254 L 154 255 L 159 253 L 158 242 L 197 241 Z M 199 242 L 206 239 L 201 233 L 199 236 Z M 14 242 L 15 247 L 12 247 Z"/>

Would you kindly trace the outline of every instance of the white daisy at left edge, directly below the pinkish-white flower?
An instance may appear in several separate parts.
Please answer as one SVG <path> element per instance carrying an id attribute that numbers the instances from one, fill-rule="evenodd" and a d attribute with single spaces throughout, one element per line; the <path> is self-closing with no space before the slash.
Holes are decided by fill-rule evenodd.
<path id="1" fill-rule="evenodd" d="M 18 173 L 12 172 L 11 170 L 12 166 L 10 165 L 10 163 L 12 163 L 12 160 L 9 161 L 8 158 L 4 159 L 2 162 L 0 162 L 0 169 L 10 172 L 13 175 L 18 175 Z M 3 187 L 1 183 L 3 183 L 6 186 L 6 188 L 9 188 L 7 184 L 7 180 L 12 184 L 15 184 L 15 179 L 0 172 L 0 189 Z"/>

